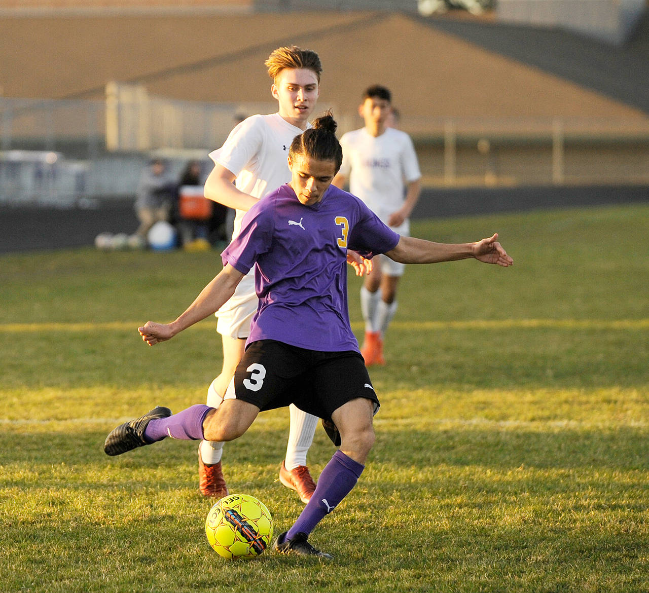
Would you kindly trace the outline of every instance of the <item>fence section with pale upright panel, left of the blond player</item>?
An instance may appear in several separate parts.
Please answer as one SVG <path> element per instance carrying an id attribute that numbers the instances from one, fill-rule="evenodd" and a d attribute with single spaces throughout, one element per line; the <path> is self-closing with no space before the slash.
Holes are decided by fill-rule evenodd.
<path id="1" fill-rule="evenodd" d="M 160 99 L 128 85 L 109 85 L 106 101 L 0 98 L 0 203 L 131 196 L 151 156 L 171 171 L 206 160 L 239 114 L 274 109 Z"/>

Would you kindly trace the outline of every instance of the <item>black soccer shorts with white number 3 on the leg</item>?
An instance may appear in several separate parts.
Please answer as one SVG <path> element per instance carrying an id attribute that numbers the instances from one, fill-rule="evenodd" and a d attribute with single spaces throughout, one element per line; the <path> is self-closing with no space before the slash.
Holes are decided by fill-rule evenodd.
<path id="1" fill-rule="evenodd" d="M 371 400 L 375 414 L 380 407 L 358 352 L 319 352 L 275 340 L 248 346 L 234 373 L 234 397 L 262 411 L 295 404 L 324 420 L 356 398 Z M 232 385 L 225 398 L 233 398 Z"/>

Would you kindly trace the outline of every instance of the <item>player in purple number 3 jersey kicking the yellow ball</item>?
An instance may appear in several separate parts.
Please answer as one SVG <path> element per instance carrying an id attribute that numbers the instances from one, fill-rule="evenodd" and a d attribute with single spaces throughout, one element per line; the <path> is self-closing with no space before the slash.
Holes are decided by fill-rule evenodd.
<path id="1" fill-rule="evenodd" d="M 289 150 L 291 181 L 243 218 L 241 233 L 223 251 L 223 270 L 188 309 L 169 324 L 139 328 L 153 346 L 212 315 L 254 266 L 259 297 L 247 349 L 219 407 L 193 405 L 171 415 L 166 407 L 117 426 L 104 451 L 119 455 L 166 437 L 232 441 L 263 410 L 291 403 L 323 419 L 339 449 L 311 500 L 274 548 L 331 558 L 308 536 L 356 485 L 374 444 L 379 402 L 352 333 L 347 312 L 347 249 L 371 258 L 385 253 L 404 263 L 476 258 L 508 267 L 513 260 L 496 241 L 451 245 L 400 237 L 361 200 L 331 185 L 342 150 L 331 115 L 297 136 Z"/>

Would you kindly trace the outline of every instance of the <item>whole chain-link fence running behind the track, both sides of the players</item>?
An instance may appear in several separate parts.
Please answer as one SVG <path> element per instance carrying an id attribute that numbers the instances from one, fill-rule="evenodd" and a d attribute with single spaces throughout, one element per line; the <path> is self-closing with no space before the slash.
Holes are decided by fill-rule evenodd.
<path id="1" fill-rule="evenodd" d="M 108 88 L 106 101 L 0 98 L 0 203 L 73 204 L 132 197 L 140 171 L 162 156 L 172 173 L 209 167 L 238 115 L 274 103 L 214 104 Z M 360 126 L 336 110 L 339 132 Z M 649 184 L 649 119 L 520 117 L 400 119 L 430 186 Z"/>

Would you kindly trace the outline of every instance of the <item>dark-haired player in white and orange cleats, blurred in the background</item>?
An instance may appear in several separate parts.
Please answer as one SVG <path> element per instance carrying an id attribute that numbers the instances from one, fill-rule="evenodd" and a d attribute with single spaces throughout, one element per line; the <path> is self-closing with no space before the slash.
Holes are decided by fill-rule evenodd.
<path id="1" fill-rule="evenodd" d="M 374 85 L 363 94 L 358 112 L 365 126 L 343 134 L 343 164 L 334 179 L 359 197 L 401 236 L 410 235 L 410 213 L 421 191 L 419 163 L 410 136 L 389 127 L 391 93 Z M 383 338 L 397 312 L 397 285 L 405 265 L 384 256 L 374 258 L 374 269 L 361 287 L 365 364 L 383 365 Z"/>

